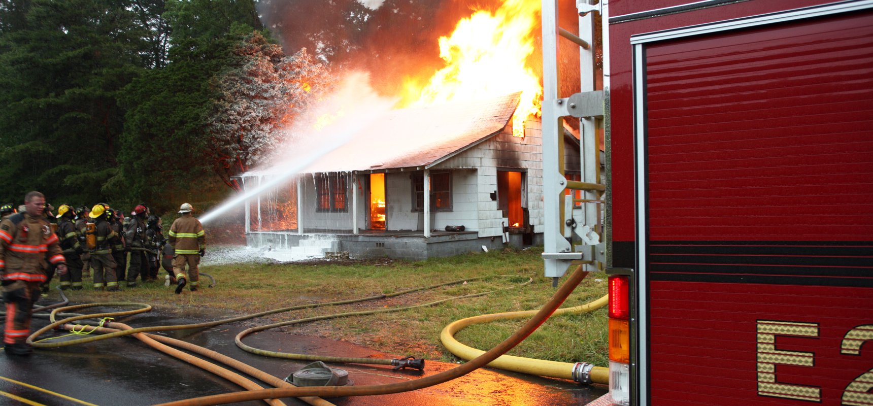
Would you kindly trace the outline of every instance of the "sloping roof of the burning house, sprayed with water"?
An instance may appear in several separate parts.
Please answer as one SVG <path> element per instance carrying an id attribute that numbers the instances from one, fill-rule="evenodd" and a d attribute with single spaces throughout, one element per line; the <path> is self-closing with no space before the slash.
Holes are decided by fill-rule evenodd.
<path id="1" fill-rule="evenodd" d="M 299 172 L 429 168 L 500 132 L 512 118 L 519 94 L 388 111 Z M 284 172 L 260 169 L 240 176 Z"/>

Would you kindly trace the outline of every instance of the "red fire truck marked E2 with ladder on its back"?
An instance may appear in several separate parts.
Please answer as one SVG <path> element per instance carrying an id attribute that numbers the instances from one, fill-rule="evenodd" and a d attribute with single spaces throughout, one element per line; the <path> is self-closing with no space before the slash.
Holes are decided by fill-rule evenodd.
<path id="1" fill-rule="evenodd" d="M 873 405 L 873 2 L 578 0 L 578 35 L 556 3 L 543 258 L 609 274 L 611 402 Z"/>

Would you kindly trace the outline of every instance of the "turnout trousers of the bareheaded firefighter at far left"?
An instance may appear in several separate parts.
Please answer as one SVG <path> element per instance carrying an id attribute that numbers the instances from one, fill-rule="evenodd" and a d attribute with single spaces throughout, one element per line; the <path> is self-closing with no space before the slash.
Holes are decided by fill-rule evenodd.
<path id="1" fill-rule="evenodd" d="M 6 323 L 3 343 L 24 343 L 31 335 L 33 304 L 39 299 L 39 282 L 4 280 L 3 301 L 6 302 Z"/>

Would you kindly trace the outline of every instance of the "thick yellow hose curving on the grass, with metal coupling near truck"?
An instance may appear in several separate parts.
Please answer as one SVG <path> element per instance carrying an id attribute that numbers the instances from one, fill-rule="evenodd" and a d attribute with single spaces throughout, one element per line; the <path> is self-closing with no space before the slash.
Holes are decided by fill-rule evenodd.
<path id="1" fill-rule="evenodd" d="M 600 299 L 593 300 L 581 306 L 559 309 L 554 312 L 553 316 L 567 313 L 591 313 L 603 306 L 606 306 L 608 304 L 608 301 L 609 296 L 606 295 Z M 496 320 L 525 319 L 533 316 L 533 314 L 535 313 L 536 311 L 533 310 L 524 312 L 492 313 L 457 320 L 443 328 L 443 331 L 440 333 L 440 341 L 443 341 L 443 346 L 445 346 L 445 348 L 447 348 L 451 354 L 455 354 L 457 357 L 465 361 L 470 361 L 481 354 L 485 354 L 485 351 L 477 348 L 468 347 L 461 342 L 455 340 L 455 334 L 457 334 L 457 332 L 463 330 L 464 327 L 472 326 L 474 324 L 488 323 Z M 488 364 L 488 367 L 505 369 L 507 371 L 521 372 L 523 374 L 548 376 L 552 378 L 570 379 L 578 381 L 579 377 L 577 375 L 574 375 L 574 369 L 577 367 L 577 365 L 577 363 L 573 362 L 546 361 L 537 360 L 534 358 L 524 358 L 514 355 L 500 355 L 496 360 L 491 361 L 491 363 Z M 604 384 L 609 383 L 609 368 L 594 367 L 591 368 L 588 374 L 590 376 L 591 382 Z"/>

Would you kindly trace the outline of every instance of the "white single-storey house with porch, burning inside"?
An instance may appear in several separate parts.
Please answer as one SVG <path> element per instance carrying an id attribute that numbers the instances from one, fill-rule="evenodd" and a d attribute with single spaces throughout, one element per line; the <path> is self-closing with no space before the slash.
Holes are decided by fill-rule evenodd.
<path id="1" fill-rule="evenodd" d="M 519 96 L 392 110 L 372 120 L 283 186 L 246 202 L 248 245 L 313 257 L 348 251 L 424 259 L 541 244 L 541 126 L 533 115 L 513 120 Z M 521 131 L 513 122 L 524 123 Z M 568 177 L 577 175 L 579 148 L 567 132 Z M 240 178 L 253 189 L 281 175 L 270 169 Z"/>

